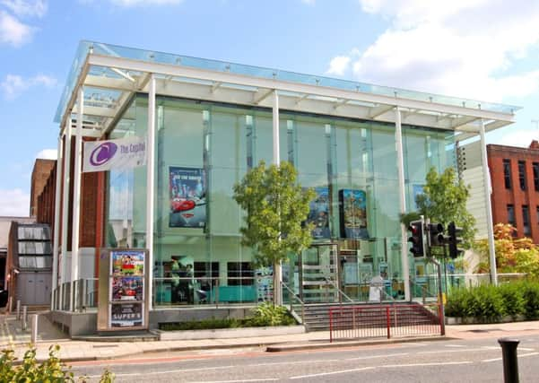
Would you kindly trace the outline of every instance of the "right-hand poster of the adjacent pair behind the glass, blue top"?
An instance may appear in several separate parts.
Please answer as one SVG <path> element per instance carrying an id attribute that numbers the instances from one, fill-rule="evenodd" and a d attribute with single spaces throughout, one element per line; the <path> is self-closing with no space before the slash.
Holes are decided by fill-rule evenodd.
<path id="1" fill-rule="evenodd" d="M 363 190 L 339 190 L 341 237 L 369 239 L 367 231 L 367 195 Z"/>

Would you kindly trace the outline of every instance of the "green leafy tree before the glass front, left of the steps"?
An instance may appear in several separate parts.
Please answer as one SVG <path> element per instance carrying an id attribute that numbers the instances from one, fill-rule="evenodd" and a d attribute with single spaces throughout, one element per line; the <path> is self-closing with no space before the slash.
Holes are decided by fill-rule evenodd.
<path id="1" fill-rule="evenodd" d="M 303 222 L 314 197 L 314 190 L 298 185 L 297 171 L 286 161 L 280 166 L 261 161 L 234 185 L 234 199 L 247 212 L 241 244 L 253 249 L 255 265 L 276 266 L 309 248 L 312 228 Z"/>

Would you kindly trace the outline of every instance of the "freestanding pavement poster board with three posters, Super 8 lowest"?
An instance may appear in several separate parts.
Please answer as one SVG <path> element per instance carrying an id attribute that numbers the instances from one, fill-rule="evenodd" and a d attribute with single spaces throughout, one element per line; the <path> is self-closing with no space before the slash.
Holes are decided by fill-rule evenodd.
<path id="1" fill-rule="evenodd" d="M 98 331 L 148 328 L 147 254 L 134 248 L 101 253 Z"/>

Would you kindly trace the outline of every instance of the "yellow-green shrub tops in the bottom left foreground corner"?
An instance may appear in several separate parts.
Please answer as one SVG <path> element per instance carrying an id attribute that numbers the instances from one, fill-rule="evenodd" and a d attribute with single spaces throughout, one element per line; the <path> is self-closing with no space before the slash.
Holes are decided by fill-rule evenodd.
<path id="1" fill-rule="evenodd" d="M 59 345 L 51 345 L 48 348 L 48 360 L 39 364 L 36 361 L 36 349 L 30 347 L 24 353 L 21 365 L 14 365 L 16 361 L 12 349 L 2 350 L 0 357 L 0 381 L 2 382 L 74 382 L 74 373 L 71 367 L 66 366 L 60 361 L 57 353 L 60 351 Z M 83 380 L 83 378 L 80 378 Z M 115 377 L 109 370 L 105 370 L 101 376 L 100 382 L 112 383 Z"/>

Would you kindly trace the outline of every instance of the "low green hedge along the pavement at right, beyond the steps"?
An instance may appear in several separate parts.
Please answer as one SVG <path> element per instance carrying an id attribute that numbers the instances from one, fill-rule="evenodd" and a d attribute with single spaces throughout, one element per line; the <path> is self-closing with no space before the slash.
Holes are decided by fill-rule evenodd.
<path id="1" fill-rule="evenodd" d="M 481 285 L 450 292 L 447 317 L 476 318 L 499 322 L 504 317 L 539 318 L 539 283 L 517 282 Z"/>

